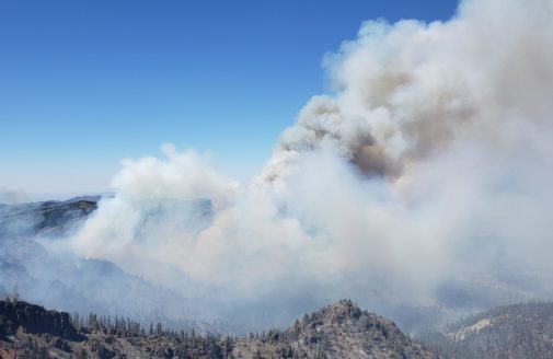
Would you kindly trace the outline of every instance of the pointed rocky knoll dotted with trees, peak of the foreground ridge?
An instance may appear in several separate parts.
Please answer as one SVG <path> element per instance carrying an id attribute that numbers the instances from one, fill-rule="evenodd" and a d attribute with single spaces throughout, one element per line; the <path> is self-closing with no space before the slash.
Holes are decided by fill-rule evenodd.
<path id="1" fill-rule="evenodd" d="M 244 358 L 436 358 L 390 320 L 341 300 L 306 314 L 290 328 L 260 339 L 240 340 L 235 354 Z"/>

